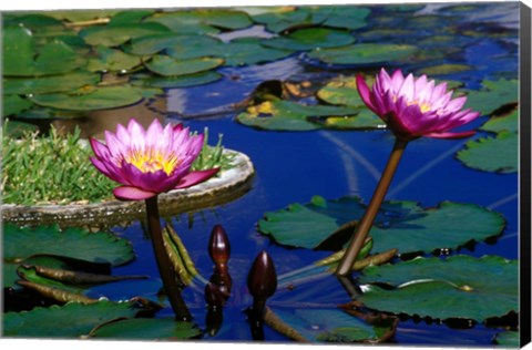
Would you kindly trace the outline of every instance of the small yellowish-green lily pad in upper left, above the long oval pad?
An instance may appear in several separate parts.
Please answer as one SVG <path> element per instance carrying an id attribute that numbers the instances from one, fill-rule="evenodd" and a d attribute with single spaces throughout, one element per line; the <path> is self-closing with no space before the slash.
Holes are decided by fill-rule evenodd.
<path id="1" fill-rule="evenodd" d="M 96 48 L 98 59 L 89 60 L 86 69 L 91 72 L 125 73 L 142 63 L 141 58 L 103 45 Z"/>

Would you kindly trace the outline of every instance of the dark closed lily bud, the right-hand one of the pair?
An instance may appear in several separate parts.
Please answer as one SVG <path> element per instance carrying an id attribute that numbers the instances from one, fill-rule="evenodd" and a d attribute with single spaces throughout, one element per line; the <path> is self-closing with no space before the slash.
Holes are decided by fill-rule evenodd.
<path id="1" fill-rule="evenodd" d="M 247 288 L 252 296 L 259 300 L 272 297 L 277 289 L 277 274 L 274 260 L 266 251 L 260 251 L 247 275 Z"/>

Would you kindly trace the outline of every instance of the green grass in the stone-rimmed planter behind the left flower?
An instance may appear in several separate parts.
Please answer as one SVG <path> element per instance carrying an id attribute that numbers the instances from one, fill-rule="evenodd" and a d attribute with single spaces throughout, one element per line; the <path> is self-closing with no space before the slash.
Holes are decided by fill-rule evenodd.
<path id="1" fill-rule="evenodd" d="M 75 128 L 73 134 L 60 135 L 52 126 L 48 135 L 24 132 L 22 137 L 13 138 L 4 134 L 0 183 L 3 203 L 63 205 L 113 199 L 117 184 L 92 165 L 89 157 L 93 152 L 86 142 L 81 142 L 80 133 Z M 221 135 L 215 146 L 203 147 L 193 169 L 227 169 L 231 162 L 232 157 L 223 154 Z"/>

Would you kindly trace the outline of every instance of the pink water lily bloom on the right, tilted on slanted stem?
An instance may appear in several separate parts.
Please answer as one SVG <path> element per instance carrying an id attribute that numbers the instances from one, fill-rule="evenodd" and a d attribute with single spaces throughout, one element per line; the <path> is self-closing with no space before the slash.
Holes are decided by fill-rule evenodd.
<path id="1" fill-rule="evenodd" d="M 474 131 L 449 132 L 473 121 L 480 113 L 462 110 L 467 97 L 451 100 L 452 91 L 447 91 L 447 83 L 436 85 L 426 75 L 405 78 L 399 70 L 390 76 L 382 69 L 371 90 L 360 74 L 357 87 L 366 105 L 401 140 L 461 138 L 474 134 Z"/>

